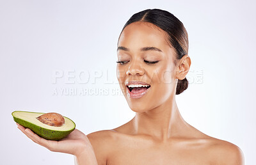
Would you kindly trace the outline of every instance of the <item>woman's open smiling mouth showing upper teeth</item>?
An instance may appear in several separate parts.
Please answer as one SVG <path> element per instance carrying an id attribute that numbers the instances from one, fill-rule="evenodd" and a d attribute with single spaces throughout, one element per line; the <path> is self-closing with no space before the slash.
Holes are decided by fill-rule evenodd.
<path id="1" fill-rule="evenodd" d="M 126 86 L 127 95 L 130 98 L 140 98 L 143 97 L 150 90 L 150 85 L 129 85 Z"/>

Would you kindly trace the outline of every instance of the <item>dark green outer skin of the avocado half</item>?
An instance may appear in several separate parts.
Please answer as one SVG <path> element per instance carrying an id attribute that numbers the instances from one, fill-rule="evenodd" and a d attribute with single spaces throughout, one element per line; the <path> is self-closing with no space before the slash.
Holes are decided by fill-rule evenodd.
<path id="1" fill-rule="evenodd" d="M 28 121 L 21 120 L 20 118 L 15 118 L 13 116 L 13 120 L 23 127 L 29 128 L 35 132 L 35 134 L 38 134 L 38 136 L 48 139 L 48 140 L 60 140 L 68 136 L 74 129 L 71 130 L 49 130 L 45 129 L 43 127 L 39 127 L 38 125 L 35 125 L 33 123 L 29 123 Z"/>

